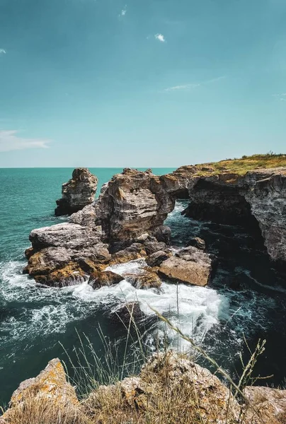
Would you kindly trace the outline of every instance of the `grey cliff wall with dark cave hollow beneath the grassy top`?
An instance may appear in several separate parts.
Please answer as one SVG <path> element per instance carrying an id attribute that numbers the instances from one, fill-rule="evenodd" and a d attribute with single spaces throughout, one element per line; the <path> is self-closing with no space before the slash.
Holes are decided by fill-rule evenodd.
<path id="1" fill-rule="evenodd" d="M 286 168 L 259 169 L 237 175 L 198 175 L 195 167 L 178 168 L 187 176 L 190 206 L 185 215 L 217 223 L 242 224 L 261 230 L 274 261 L 286 262 Z M 202 172 L 203 173 L 203 172 Z M 259 227 L 258 227 L 259 225 Z"/>

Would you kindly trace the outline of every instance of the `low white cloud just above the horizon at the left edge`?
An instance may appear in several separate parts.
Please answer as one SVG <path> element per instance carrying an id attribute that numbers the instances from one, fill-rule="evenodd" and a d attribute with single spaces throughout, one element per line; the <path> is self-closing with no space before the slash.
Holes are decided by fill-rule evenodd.
<path id="1" fill-rule="evenodd" d="M 0 152 L 23 150 L 26 148 L 48 148 L 49 140 L 23 139 L 18 137 L 18 131 L 0 130 Z"/>

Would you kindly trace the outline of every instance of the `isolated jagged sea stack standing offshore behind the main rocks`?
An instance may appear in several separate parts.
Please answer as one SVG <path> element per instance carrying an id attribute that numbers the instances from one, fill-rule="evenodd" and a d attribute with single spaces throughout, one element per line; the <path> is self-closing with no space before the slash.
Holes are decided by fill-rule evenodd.
<path id="1" fill-rule="evenodd" d="M 86 168 L 76 168 L 69 182 L 62 184 L 62 199 L 57 200 L 55 215 L 71 215 L 91 204 L 96 195 L 98 179 Z"/>

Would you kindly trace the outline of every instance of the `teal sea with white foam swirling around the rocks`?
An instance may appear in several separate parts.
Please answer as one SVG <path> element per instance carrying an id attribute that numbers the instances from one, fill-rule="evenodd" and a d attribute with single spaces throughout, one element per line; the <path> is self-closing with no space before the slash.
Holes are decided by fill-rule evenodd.
<path id="1" fill-rule="evenodd" d="M 90 168 L 101 185 L 121 168 Z M 174 168 L 153 168 L 156 175 Z M 156 310 L 183 334 L 191 337 L 219 365 L 237 379 L 241 360 L 247 362 L 259 341 L 266 340 L 253 376 L 268 377 L 256 384 L 285 387 L 286 282 L 258 249 L 256 235 L 239 226 L 218 225 L 185 218 L 188 205 L 178 200 L 166 219 L 172 247 L 191 237 L 202 237 L 207 249 L 219 258 L 210 285 L 205 288 L 163 281 L 161 290 L 137 290 L 127 281 L 93 290 L 88 283 L 67 288 L 47 288 L 23 275 L 25 249 L 34 228 L 62 223 L 54 215 L 55 200 L 72 168 L 0 169 L 0 406 L 5 406 L 18 384 L 38 375 L 49 360 L 67 364 L 83 338 L 96 355 L 105 355 L 103 338 L 126 350 L 126 335 L 110 321 L 109 312 L 122 302 L 137 300 L 147 316 Z M 136 270 L 142 262 L 113 269 Z M 188 341 L 178 341 L 160 319 L 146 331 L 150 353 L 164 341 L 173 349 L 188 351 Z M 163 346 L 162 343 L 160 346 Z M 203 358 L 198 362 L 209 366 Z"/>

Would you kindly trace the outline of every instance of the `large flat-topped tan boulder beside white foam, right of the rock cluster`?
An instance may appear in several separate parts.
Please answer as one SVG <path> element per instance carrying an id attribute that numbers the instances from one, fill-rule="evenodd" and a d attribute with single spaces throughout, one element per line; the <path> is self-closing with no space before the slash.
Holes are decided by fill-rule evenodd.
<path id="1" fill-rule="evenodd" d="M 182 249 L 177 255 L 162 262 L 159 272 L 183 283 L 207 285 L 212 271 L 210 255 L 195 247 Z"/>

